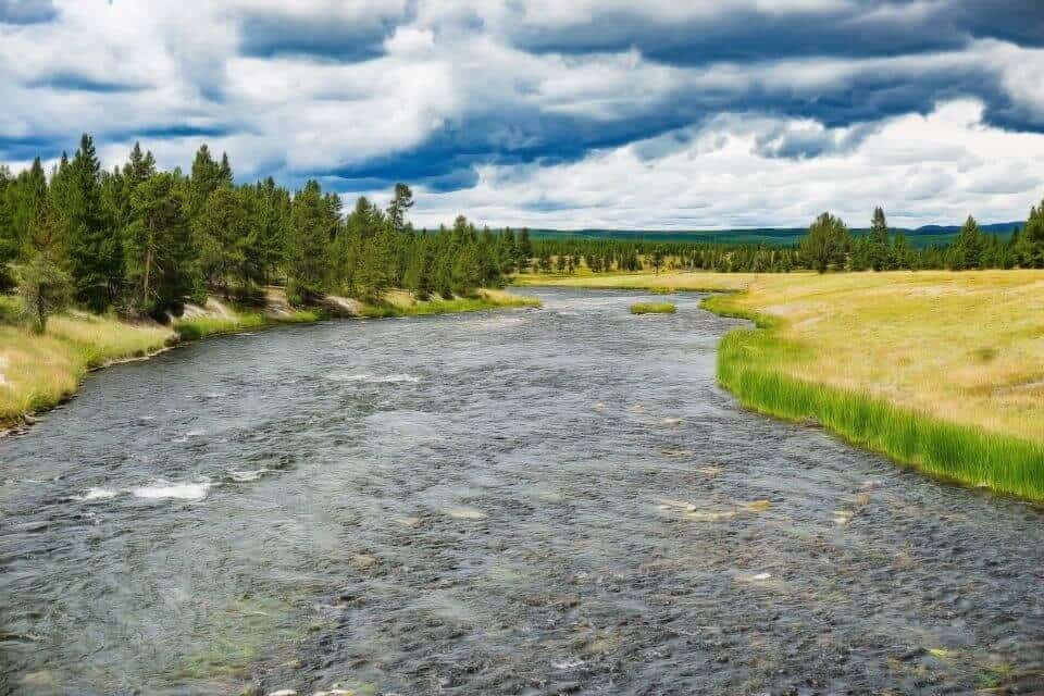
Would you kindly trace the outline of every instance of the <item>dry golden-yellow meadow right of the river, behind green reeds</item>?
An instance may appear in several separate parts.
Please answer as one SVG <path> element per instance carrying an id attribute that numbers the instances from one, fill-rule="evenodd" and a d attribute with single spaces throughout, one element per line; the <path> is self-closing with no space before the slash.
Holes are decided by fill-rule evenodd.
<path id="1" fill-rule="evenodd" d="M 1044 442 L 1044 271 L 763 275 L 731 303 L 808 348 L 792 376 Z"/>

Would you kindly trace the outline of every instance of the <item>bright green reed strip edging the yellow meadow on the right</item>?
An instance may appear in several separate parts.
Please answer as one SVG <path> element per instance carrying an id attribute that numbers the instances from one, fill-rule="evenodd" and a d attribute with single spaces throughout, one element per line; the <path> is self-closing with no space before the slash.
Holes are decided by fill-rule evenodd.
<path id="1" fill-rule="evenodd" d="M 1044 500 L 1044 446 L 972 425 L 949 423 L 868 394 L 813 384 L 776 365 L 809 359 L 810 347 L 778 335 L 780 322 L 735 307 L 728 296 L 704 307 L 751 319 L 730 332 L 718 352 L 718 380 L 747 408 L 776 418 L 816 421 L 846 440 L 936 476 Z"/>

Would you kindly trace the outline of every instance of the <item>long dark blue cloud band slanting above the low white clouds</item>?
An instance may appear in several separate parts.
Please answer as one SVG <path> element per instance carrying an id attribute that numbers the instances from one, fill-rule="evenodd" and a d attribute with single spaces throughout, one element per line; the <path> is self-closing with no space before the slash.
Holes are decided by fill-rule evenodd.
<path id="1" fill-rule="evenodd" d="M 402 153 L 332 172 L 347 179 L 378 181 L 388 185 L 406 179 L 437 190 L 469 187 L 482 164 L 544 165 L 572 162 L 593 150 L 642 141 L 639 157 L 654 159 L 670 142 L 649 140 L 664 134 L 688 137 L 679 129 L 705 123 L 722 113 L 763 114 L 809 119 L 824 128 L 852 127 L 836 139 L 826 130 L 794 130 L 775 126 L 758 134 L 756 147 L 765 157 L 816 158 L 854 149 L 882 120 L 906 113 L 927 114 L 939 101 L 977 97 L 986 105 L 986 122 L 1017 130 L 1044 132 L 1040 114 L 1017 110 L 986 69 L 939 69 L 916 78 L 895 72 L 869 72 L 837 79 L 800 92 L 779 85 L 757 84 L 736 90 L 693 89 L 636 107 L 614 120 L 548 114 L 523 108 L 502 109 L 468 116 L 433 133 L 427 140 Z M 510 140 L 498 134 L 510 132 Z M 513 146 L 511 142 L 524 145 Z M 359 186 L 356 190 L 364 189 Z"/>

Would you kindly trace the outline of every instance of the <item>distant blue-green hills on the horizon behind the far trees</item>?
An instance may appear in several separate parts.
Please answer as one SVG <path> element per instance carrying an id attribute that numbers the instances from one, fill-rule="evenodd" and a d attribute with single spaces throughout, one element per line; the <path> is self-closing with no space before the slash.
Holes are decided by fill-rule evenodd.
<path id="1" fill-rule="evenodd" d="M 998 222 L 981 225 L 983 232 L 1010 236 L 1022 222 Z M 922 248 L 948 244 L 960 231 L 960 225 L 923 225 L 916 229 L 893 228 L 902 232 L 911 246 Z M 704 244 L 766 244 L 785 246 L 796 244 L 808 232 L 807 227 L 755 227 L 748 229 L 530 229 L 533 237 L 557 239 L 630 239 L 634 241 L 696 241 Z M 857 227 L 854 235 L 869 229 Z"/>

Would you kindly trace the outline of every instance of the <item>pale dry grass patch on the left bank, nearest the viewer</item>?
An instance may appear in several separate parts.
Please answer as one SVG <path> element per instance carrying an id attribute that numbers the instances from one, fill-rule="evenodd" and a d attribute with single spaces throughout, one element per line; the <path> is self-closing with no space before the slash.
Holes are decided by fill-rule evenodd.
<path id="1" fill-rule="evenodd" d="M 42 336 L 0 326 L 0 424 L 54 406 L 89 369 L 159 350 L 172 335 L 154 324 L 79 313 L 52 318 Z"/>

